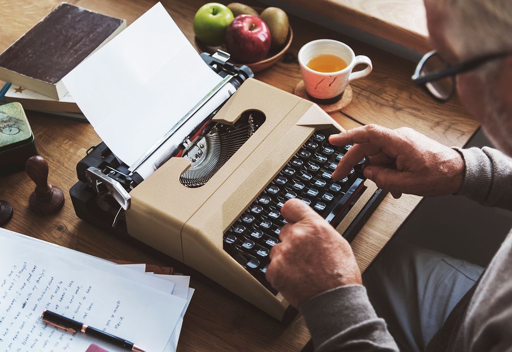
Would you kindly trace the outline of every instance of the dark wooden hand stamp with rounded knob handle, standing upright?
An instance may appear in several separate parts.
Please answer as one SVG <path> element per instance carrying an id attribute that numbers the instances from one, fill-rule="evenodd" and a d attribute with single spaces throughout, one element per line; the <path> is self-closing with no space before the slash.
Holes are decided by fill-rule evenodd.
<path id="1" fill-rule="evenodd" d="M 30 209 L 37 214 L 49 215 L 64 205 L 64 194 L 58 187 L 48 183 L 48 163 L 40 156 L 33 156 L 25 163 L 25 170 L 36 187 L 30 194 Z"/>

